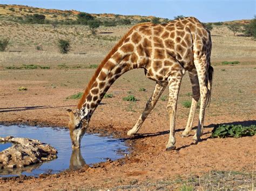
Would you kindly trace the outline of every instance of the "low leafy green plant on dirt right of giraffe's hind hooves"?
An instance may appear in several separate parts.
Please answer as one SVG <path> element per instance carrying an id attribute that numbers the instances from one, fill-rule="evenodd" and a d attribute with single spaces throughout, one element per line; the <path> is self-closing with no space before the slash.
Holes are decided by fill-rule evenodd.
<path id="1" fill-rule="evenodd" d="M 225 137 L 245 137 L 253 136 L 256 134 L 256 125 L 248 127 L 241 125 L 220 125 L 217 124 L 212 130 L 212 138 L 225 138 Z"/>

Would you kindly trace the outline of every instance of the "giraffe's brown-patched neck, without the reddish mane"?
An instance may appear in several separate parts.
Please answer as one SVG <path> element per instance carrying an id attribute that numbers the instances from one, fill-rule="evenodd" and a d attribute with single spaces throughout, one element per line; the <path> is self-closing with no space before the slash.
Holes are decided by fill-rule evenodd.
<path id="1" fill-rule="evenodd" d="M 82 108 L 78 110 L 81 119 L 90 120 L 92 113 L 96 110 L 114 81 L 125 72 L 135 68 L 133 64 L 125 60 L 126 56 L 130 56 L 130 54 L 116 52 L 106 62 L 98 77 L 93 82 Z"/>

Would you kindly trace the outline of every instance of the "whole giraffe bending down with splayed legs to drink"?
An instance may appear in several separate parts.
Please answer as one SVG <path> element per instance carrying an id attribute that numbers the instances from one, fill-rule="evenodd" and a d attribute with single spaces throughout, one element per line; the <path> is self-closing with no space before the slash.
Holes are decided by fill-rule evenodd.
<path id="1" fill-rule="evenodd" d="M 123 73 L 132 69 L 144 69 L 146 77 L 156 81 L 156 85 L 143 113 L 127 134 L 138 132 L 168 86 L 170 135 L 166 150 L 176 149 L 174 130 L 177 99 L 181 79 L 188 71 L 193 98 L 187 125 L 181 136 L 187 137 L 190 133 L 201 98 L 198 128 L 193 136 L 193 140 L 198 141 L 203 134 L 205 107 L 211 95 L 213 67 L 210 56 L 210 31 L 194 17 L 180 18 L 166 24 L 141 23 L 133 26 L 98 66 L 78 102 L 77 111 L 68 110 L 72 147 L 79 148 L 91 116 L 109 87 Z"/>

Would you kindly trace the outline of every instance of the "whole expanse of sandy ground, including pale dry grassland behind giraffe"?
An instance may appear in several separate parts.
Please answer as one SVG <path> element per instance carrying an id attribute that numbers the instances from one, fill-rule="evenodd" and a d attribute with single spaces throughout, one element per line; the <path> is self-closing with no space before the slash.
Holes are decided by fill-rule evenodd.
<path id="1" fill-rule="evenodd" d="M 59 127 L 67 126 L 69 117 L 65 110 L 75 110 L 78 101 L 66 97 L 82 92 L 95 71 L 86 66 L 98 64 L 129 28 L 100 28 L 99 32 L 113 33 L 108 37 L 92 38 L 87 36 L 85 26 L 58 26 L 57 30 L 47 25 L 5 23 L 3 26 L 0 37 L 9 37 L 11 45 L 8 52 L 0 52 L 1 124 Z M 143 70 L 133 70 L 112 85 L 107 93 L 114 97 L 102 100 L 87 129 L 87 132 L 124 138 L 131 148 L 129 155 L 93 168 L 85 166 L 39 178 L 0 178 L 0 189 L 180 189 L 184 185 L 200 190 L 252 189 L 253 180 L 255 185 L 256 137 L 210 138 L 216 124 L 256 124 L 256 42 L 248 37 L 233 37 L 225 30 L 226 26 L 221 26 L 212 31 L 213 92 L 211 105 L 206 109 L 203 139 L 198 144 L 192 141 L 194 132 L 190 137 L 180 137 L 190 111 L 183 102 L 192 99 L 188 74 L 183 78 L 178 99 L 176 151 L 165 151 L 169 118 L 164 97 L 158 101 L 139 134 L 126 135 L 139 118 L 154 87 L 154 82 L 145 77 Z M 75 32 L 77 35 L 73 35 Z M 69 54 L 58 53 L 55 44 L 58 38 L 69 38 L 74 42 Z M 43 51 L 36 50 L 38 44 L 43 45 Z M 238 60 L 240 64 L 220 64 L 226 60 Z M 50 69 L 7 68 L 22 64 L 40 64 L 50 66 Z M 60 64 L 65 67 L 59 67 Z M 74 67 L 77 64 L 82 67 Z M 28 90 L 18 91 L 20 86 Z M 140 88 L 146 91 L 139 91 Z M 139 101 L 124 101 L 129 94 Z M 163 95 L 166 94 L 167 90 Z M 198 114 L 199 111 L 194 128 Z"/>

